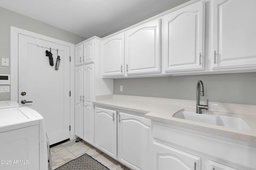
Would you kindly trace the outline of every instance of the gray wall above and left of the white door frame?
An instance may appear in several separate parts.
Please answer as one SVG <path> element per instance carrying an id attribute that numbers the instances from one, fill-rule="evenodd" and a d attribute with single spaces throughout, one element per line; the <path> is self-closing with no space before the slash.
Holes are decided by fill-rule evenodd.
<path id="1" fill-rule="evenodd" d="M 18 27 L 73 44 L 80 43 L 86 39 L 74 33 L 64 31 L 63 29 L 59 29 L 0 7 L 0 59 L 10 59 L 10 26 Z M 10 74 L 10 66 L 6 67 L 1 66 L 0 64 L 0 74 Z M 0 93 L 0 101 L 1 100 L 10 100 L 10 93 Z"/>

